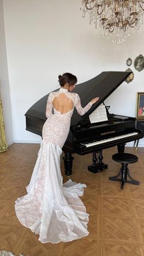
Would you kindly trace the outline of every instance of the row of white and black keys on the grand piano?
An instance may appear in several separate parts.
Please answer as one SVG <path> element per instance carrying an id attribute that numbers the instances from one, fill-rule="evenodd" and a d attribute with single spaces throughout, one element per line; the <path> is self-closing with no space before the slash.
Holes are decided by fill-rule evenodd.
<path id="1" fill-rule="evenodd" d="M 81 145 L 84 145 L 85 147 L 92 147 L 95 145 L 99 145 L 99 144 L 104 144 L 107 142 L 111 142 L 111 141 L 117 141 L 118 139 L 123 139 L 123 138 L 127 138 L 127 137 L 131 137 L 134 135 L 137 135 L 138 133 L 128 133 L 128 134 L 123 134 L 117 137 L 110 137 L 109 139 L 103 139 L 101 141 L 90 141 L 90 142 L 82 142 Z"/>

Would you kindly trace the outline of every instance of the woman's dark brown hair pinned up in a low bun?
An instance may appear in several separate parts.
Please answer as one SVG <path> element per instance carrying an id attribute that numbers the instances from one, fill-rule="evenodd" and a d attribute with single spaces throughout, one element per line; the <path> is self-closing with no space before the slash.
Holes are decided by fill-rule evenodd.
<path id="1" fill-rule="evenodd" d="M 62 76 L 59 75 L 59 84 L 60 86 L 64 86 L 65 84 L 74 85 L 77 83 L 77 78 L 71 73 L 64 73 Z"/>

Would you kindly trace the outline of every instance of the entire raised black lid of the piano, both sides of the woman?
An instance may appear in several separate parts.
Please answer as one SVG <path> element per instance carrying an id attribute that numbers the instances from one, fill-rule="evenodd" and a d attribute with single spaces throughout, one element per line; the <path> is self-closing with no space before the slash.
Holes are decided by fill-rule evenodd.
<path id="1" fill-rule="evenodd" d="M 71 128 L 76 128 L 81 124 L 84 119 L 88 117 L 98 106 L 106 100 L 107 97 L 131 74 L 131 72 L 125 71 L 104 71 L 95 78 L 92 78 L 81 84 L 77 84 L 74 92 L 79 94 L 81 98 L 82 107 L 84 107 L 92 98 L 99 97 L 99 100 L 93 104 L 92 108 L 81 117 L 74 109 L 71 117 Z M 59 90 L 59 89 L 57 89 Z M 56 90 L 54 90 L 56 91 Z M 46 101 L 48 99 L 47 94 L 45 97 L 38 100 L 27 112 L 26 116 L 35 117 L 38 119 L 46 120 Z"/>

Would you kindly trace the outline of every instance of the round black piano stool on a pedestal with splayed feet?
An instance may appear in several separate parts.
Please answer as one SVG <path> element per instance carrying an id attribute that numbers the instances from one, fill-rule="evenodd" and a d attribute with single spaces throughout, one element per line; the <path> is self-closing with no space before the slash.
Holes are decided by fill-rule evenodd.
<path id="1" fill-rule="evenodd" d="M 109 177 L 109 180 L 121 181 L 121 189 L 124 187 L 124 182 L 139 185 L 139 181 L 134 180 L 129 174 L 128 164 L 136 163 L 138 157 L 129 153 L 117 153 L 112 156 L 112 159 L 118 163 L 121 163 L 121 169 L 117 176 Z M 129 180 L 127 180 L 127 175 Z M 121 178 L 119 178 L 121 177 Z"/>

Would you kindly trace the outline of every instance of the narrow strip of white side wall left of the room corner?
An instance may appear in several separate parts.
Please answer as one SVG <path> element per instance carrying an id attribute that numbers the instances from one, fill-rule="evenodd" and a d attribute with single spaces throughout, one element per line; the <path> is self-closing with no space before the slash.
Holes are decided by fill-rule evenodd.
<path id="1" fill-rule="evenodd" d="M 0 93 L 2 112 L 5 123 L 5 137 L 7 144 L 13 143 L 12 112 L 10 104 L 9 75 L 7 70 L 7 54 L 5 48 L 3 4 L 0 0 Z"/>

